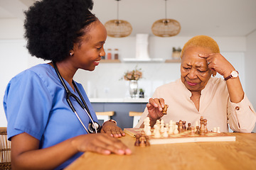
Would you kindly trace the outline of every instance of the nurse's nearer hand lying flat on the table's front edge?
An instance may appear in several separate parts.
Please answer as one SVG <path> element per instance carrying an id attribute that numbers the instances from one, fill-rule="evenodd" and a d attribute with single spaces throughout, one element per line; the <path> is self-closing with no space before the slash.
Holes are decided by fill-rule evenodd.
<path id="1" fill-rule="evenodd" d="M 132 151 L 120 140 L 105 133 L 80 135 L 72 141 L 78 152 L 97 152 L 100 154 L 131 154 Z"/>

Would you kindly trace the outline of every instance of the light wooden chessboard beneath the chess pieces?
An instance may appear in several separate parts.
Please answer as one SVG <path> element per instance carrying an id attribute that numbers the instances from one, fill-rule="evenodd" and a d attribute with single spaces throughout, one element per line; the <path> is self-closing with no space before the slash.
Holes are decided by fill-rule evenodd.
<path id="1" fill-rule="evenodd" d="M 141 134 L 144 131 L 143 128 L 124 128 L 124 132 L 127 135 L 135 137 L 137 134 Z M 153 132 L 153 128 L 152 128 Z M 154 137 L 154 133 L 149 135 L 150 145 L 160 145 L 160 144 L 172 144 L 172 143 L 186 143 L 186 142 L 227 142 L 235 141 L 235 136 L 229 135 L 223 132 L 207 132 L 205 135 L 191 135 L 190 132 L 181 132 L 178 134 L 172 134 L 168 137 Z"/>

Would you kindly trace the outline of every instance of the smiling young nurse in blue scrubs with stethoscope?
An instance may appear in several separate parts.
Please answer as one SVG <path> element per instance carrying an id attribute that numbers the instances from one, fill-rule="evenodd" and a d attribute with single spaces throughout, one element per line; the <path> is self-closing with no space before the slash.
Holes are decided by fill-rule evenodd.
<path id="1" fill-rule="evenodd" d="M 97 117 L 82 85 L 73 80 L 78 69 L 93 71 L 105 55 L 106 29 L 90 12 L 92 5 L 90 0 L 43 0 L 25 12 L 28 51 L 50 62 L 21 72 L 7 85 L 4 111 L 13 169 L 63 169 L 88 151 L 131 154 L 117 140 L 124 132 L 114 121 L 103 123 L 97 134 L 88 134 Z M 60 79 L 85 101 L 84 110 L 70 97 L 78 116 Z"/>

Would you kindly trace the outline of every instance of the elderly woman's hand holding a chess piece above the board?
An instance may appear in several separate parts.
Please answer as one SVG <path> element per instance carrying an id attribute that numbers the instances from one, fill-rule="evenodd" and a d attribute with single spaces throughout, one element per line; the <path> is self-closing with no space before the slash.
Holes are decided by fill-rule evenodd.
<path id="1" fill-rule="evenodd" d="M 149 118 L 151 120 L 158 120 L 159 118 L 163 117 L 164 114 L 162 111 L 164 106 L 164 98 L 149 98 L 149 103 L 146 104 L 146 108 L 149 111 Z"/>

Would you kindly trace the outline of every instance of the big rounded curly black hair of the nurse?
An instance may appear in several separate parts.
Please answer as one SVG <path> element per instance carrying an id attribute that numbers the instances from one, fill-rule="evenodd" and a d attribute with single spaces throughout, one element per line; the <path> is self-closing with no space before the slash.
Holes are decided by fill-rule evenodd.
<path id="1" fill-rule="evenodd" d="M 60 62 L 70 56 L 90 23 L 97 17 L 90 12 L 92 0 L 42 0 L 25 11 L 26 47 L 32 56 Z"/>

